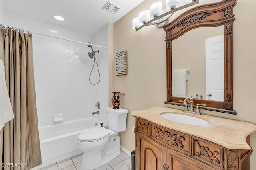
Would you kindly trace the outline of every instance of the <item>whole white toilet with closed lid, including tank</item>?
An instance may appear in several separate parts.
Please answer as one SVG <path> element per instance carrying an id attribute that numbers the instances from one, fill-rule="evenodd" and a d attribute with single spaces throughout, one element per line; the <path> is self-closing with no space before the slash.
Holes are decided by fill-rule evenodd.
<path id="1" fill-rule="evenodd" d="M 125 131 L 128 110 L 107 107 L 108 127 L 86 129 L 78 136 L 79 149 L 84 150 L 80 170 L 98 168 L 120 154 L 118 132 Z"/>

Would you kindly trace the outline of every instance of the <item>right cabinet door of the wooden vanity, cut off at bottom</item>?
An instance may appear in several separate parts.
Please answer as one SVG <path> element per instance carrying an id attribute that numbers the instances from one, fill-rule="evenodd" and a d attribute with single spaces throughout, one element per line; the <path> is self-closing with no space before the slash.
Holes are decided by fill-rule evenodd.
<path id="1" fill-rule="evenodd" d="M 168 170 L 212 170 L 213 168 L 200 163 L 193 158 L 166 150 L 166 166 Z"/>

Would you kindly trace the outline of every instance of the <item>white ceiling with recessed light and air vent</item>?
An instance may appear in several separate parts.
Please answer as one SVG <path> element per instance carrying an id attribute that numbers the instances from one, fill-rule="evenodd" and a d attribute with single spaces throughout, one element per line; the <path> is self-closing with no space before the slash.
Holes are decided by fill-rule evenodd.
<path id="1" fill-rule="evenodd" d="M 12 14 L 94 34 L 108 22 L 115 23 L 142 0 L 111 0 L 121 8 L 115 14 L 102 9 L 106 2 L 108 0 L 1 0 L 1 5 Z M 57 21 L 54 15 L 66 20 Z"/>

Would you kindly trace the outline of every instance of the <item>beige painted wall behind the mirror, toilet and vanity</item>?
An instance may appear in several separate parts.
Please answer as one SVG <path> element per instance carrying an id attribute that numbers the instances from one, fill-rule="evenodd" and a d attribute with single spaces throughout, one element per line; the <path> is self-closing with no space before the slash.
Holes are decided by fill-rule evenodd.
<path id="1" fill-rule="evenodd" d="M 166 43 L 162 28 L 148 26 L 135 32 L 132 19 L 142 10 L 149 9 L 154 1 L 144 1 L 113 25 L 114 39 L 110 47 L 113 52 L 109 59 L 109 98 L 111 91 L 126 93 L 121 96 L 120 107 L 128 109 L 126 131 L 120 133 L 121 145 L 132 151 L 135 149 L 135 134 L 132 127 L 135 119 L 132 111 L 154 106 L 183 107 L 164 104 L 166 101 Z M 184 2 L 183 2 L 184 3 Z M 209 3 L 200 0 L 200 4 Z M 164 4 L 164 3 L 163 3 Z M 256 1 L 238 0 L 234 7 L 234 110 L 237 115 L 202 111 L 203 114 L 238 119 L 256 123 Z M 188 9 L 188 8 L 187 8 Z M 185 10 L 187 10 L 185 9 Z M 171 20 L 181 14 L 176 12 Z M 112 25 L 110 25 L 112 27 Z M 115 54 L 128 51 L 128 75 L 115 75 Z M 109 103 L 111 106 L 111 103 Z M 251 135 L 251 169 L 256 169 L 256 133 Z"/>

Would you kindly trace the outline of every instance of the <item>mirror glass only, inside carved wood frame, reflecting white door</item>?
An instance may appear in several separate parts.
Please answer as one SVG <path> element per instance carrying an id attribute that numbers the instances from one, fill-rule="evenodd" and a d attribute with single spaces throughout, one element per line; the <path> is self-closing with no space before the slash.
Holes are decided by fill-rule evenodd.
<path id="1" fill-rule="evenodd" d="M 223 101 L 223 40 L 222 25 L 192 29 L 172 41 L 172 96 Z"/>

